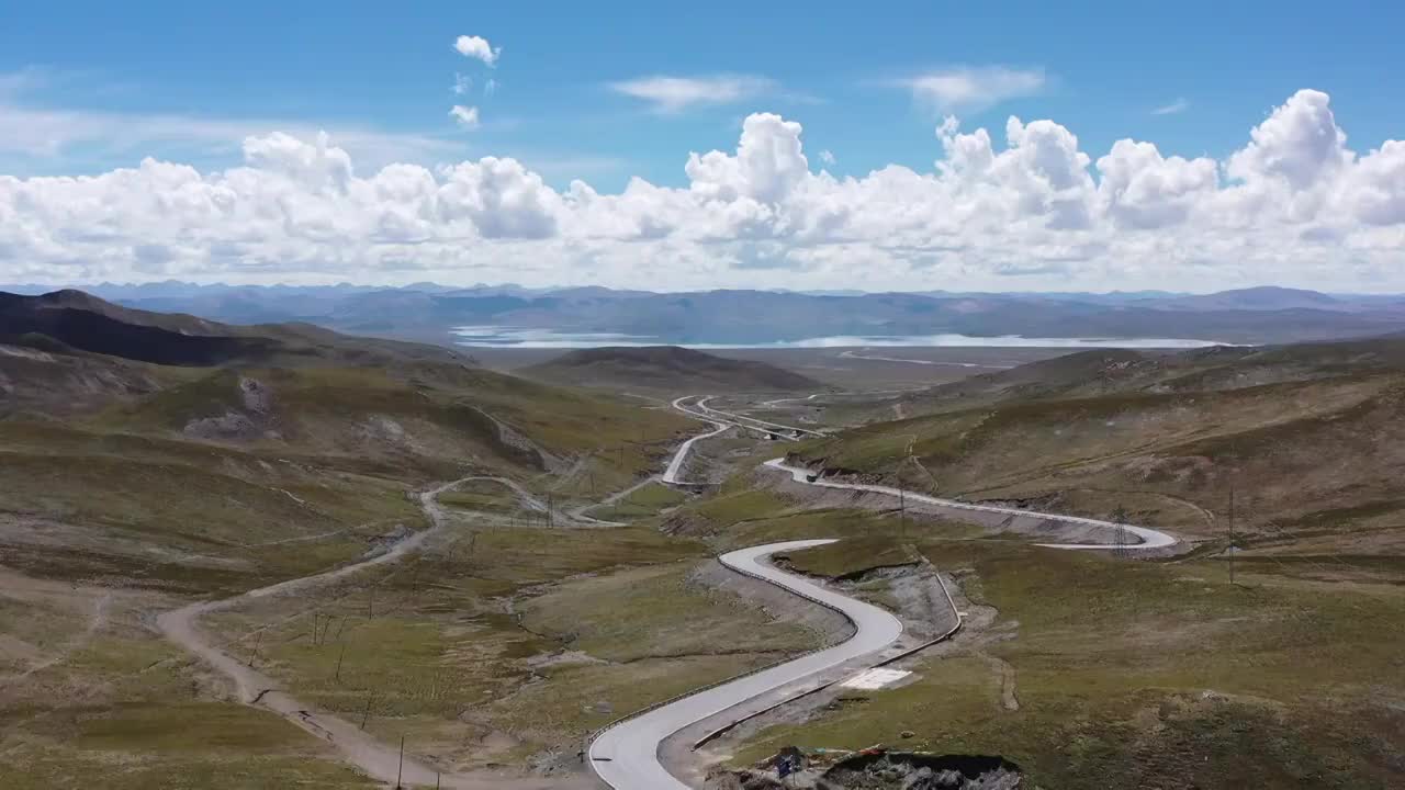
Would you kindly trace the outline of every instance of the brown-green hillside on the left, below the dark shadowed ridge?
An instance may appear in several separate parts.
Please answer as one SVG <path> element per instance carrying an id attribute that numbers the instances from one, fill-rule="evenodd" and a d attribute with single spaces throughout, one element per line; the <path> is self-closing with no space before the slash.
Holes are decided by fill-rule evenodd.
<path id="1" fill-rule="evenodd" d="M 448 350 L 110 308 L 59 294 L 6 313 L 86 318 L 44 318 L 62 335 L 44 350 L 0 346 L 0 564 L 183 592 L 246 589 L 419 529 L 412 489 L 471 472 L 541 488 L 573 472 L 611 491 L 658 467 L 691 427 Z M 128 357 L 93 350 L 108 342 L 97 337 L 104 322 L 278 350 L 257 364 L 136 361 L 160 356 L 142 346 L 148 335 L 124 336 L 136 343 L 118 349 Z M 228 335 L 181 333 L 195 330 Z M 563 486 L 558 500 L 570 495 Z"/>

